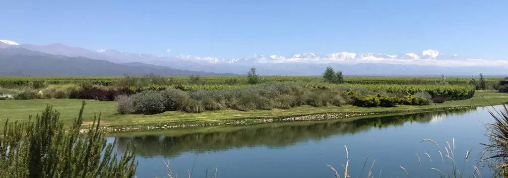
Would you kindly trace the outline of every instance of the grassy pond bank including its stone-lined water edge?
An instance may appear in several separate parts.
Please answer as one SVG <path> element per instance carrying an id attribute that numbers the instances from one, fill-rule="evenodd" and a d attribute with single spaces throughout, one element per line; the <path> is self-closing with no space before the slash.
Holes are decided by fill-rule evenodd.
<path id="1" fill-rule="evenodd" d="M 60 120 L 65 125 L 72 124 L 78 115 L 83 100 L 78 99 L 36 99 L 36 100 L 0 100 L 0 122 L 24 122 L 28 115 L 35 116 L 47 105 L 60 112 Z M 238 111 L 232 109 L 186 113 L 168 111 L 161 114 L 121 115 L 116 112 L 115 102 L 86 100 L 82 127 L 86 128 L 94 114 L 102 114 L 101 128 L 107 133 L 135 132 L 150 130 L 204 129 L 226 126 L 250 126 L 276 122 L 302 122 L 332 119 L 359 119 L 383 115 L 411 114 L 420 112 L 455 110 L 508 103 L 508 94 L 478 92 L 470 99 L 447 101 L 442 104 L 423 106 L 398 105 L 396 107 L 362 108 L 352 105 L 312 107 L 308 105 L 273 110 Z M 2 130 L 3 127 L 0 128 Z M 84 130 L 83 130 L 84 131 Z"/>

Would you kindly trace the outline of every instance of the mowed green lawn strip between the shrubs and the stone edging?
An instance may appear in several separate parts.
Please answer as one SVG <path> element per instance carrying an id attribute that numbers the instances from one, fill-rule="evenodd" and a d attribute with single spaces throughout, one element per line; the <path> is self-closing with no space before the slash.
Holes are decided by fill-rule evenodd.
<path id="1" fill-rule="evenodd" d="M 10 121 L 28 120 L 28 115 L 35 115 L 45 109 L 47 105 L 52 105 L 58 110 L 60 120 L 64 123 L 72 123 L 73 119 L 78 115 L 81 107 L 79 99 L 36 99 L 36 100 L 0 100 L 0 122 L 4 123 L 7 118 Z M 148 123 L 170 123 L 184 121 L 217 121 L 220 119 L 237 119 L 237 118 L 273 118 L 293 115 L 305 115 L 316 113 L 339 113 L 339 112 L 355 112 L 355 113 L 373 113 L 373 112 L 418 112 L 424 110 L 432 110 L 449 107 L 464 106 L 489 106 L 499 105 L 508 102 L 508 94 L 502 93 L 482 93 L 477 92 L 471 99 L 460 101 L 449 101 L 443 104 L 432 104 L 426 106 L 406 106 L 399 105 L 392 108 L 361 108 L 357 106 L 326 106 L 312 107 L 301 106 L 287 110 L 254 110 L 254 111 L 237 111 L 232 109 L 206 111 L 202 113 L 186 113 L 181 111 L 170 111 L 154 115 L 129 114 L 121 115 L 116 112 L 115 102 L 100 102 L 86 100 L 84 119 L 85 121 L 93 120 L 94 114 L 102 113 L 103 125 L 133 125 Z M 3 127 L 3 126 L 1 126 Z M 0 130 L 3 128 L 0 128 Z"/>

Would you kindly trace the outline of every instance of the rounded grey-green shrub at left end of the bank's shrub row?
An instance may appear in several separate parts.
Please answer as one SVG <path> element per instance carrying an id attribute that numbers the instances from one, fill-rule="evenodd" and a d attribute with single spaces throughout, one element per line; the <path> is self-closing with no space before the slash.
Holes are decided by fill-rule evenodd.
<path id="1" fill-rule="evenodd" d="M 132 95 L 133 113 L 157 114 L 166 111 L 166 101 L 161 92 L 144 91 Z"/>

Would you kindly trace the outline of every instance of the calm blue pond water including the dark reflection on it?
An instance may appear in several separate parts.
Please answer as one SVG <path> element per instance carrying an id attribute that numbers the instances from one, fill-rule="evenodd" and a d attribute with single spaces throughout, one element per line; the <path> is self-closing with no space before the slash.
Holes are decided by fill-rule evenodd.
<path id="1" fill-rule="evenodd" d="M 179 177 L 187 177 L 188 169 L 193 167 L 193 177 L 205 177 L 206 172 L 212 174 L 215 168 L 218 177 L 334 177 L 327 164 L 343 174 L 344 145 L 349 151 L 352 177 L 366 177 L 374 159 L 374 177 L 406 177 L 400 166 L 411 177 L 435 177 L 439 172 L 431 168 L 448 173 L 453 169 L 450 158 L 446 157 L 446 141 L 452 150 L 455 145 L 453 154 L 448 154 L 455 158 L 459 171 L 464 177 L 472 177 L 472 165 L 477 165 L 484 149 L 480 143 L 488 143 L 484 136 L 485 123 L 493 121 L 488 109 L 492 110 L 482 107 L 353 121 L 271 123 L 195 132 L 138 132 L 130 133 L 136 137 L 109 139 L 117 139 L 120 152 L 126 143 L 136 144 L 139 177 L 167 177 L 165 160 Z M 427 138 L 439 146 L 426 141 L 420 143 Z M 466 152 L 471 148 L 466 161 Z M 416 154 L 420 156 L 421 166 Z M 480 168 L 483 177 L 492 175 L 488 167 Z"/>

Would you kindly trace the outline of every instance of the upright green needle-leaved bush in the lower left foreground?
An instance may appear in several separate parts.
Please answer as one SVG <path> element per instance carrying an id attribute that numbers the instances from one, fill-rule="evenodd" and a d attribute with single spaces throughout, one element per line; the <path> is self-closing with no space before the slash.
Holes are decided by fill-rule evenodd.
<path id="1" fill-rule="evenodd" d="M 59 112 L 46 110 L 27 123 L 5 124 L 0 137 L 0 170 L 8 177 L 134 177 L 137 163 L 131 147 L 118 159 L 107 144 L 101 116 L 80 133 L 84 102 L 71 127 Z M 97 121 L 97 122 L 96 122 Z"/>

